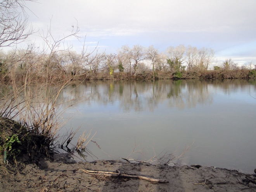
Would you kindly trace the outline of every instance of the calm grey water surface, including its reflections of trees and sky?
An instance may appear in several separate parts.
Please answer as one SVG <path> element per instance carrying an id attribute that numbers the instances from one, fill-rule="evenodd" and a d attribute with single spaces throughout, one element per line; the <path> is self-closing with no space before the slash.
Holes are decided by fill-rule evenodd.
<path id="1" fill-rule="evenodd" d="M 256 81 L 90 81 L 63 90 L 69 123 L 92 130 L 86 161 L 185 155 L 201 164 L 253 173 L 256 168 Z M 73 143 L 76 143 L 73 140 Z M 80 159 L 79 159 L 79 158 Z M 78 161 L 84 160 L 80 156 Z"/>

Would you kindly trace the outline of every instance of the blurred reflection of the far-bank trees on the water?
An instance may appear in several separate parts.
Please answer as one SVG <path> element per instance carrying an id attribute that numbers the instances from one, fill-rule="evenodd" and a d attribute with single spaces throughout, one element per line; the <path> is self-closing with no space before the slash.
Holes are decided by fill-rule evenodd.
<path id="1" fill-rule="evenodd" d="M 77 107 L 118 104 L 124 112 L 154 111 L 159 104 L 183 109 L 212 104 L 218 89 L 229 94 L 245 86 L 250 86 L 246 80 L 87 81 L 64 89 L 59 100 L 72 100 L 64 105 Z"/>

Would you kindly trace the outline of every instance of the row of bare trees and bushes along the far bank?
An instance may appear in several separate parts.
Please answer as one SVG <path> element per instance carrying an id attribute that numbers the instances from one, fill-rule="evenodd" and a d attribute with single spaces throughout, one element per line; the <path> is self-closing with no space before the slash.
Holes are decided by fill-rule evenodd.
<path id="1" fill-rule="evenodd" d="M 49 32 L 50 33 L 50 32 Z M 76 35 L 76 31 L 73 34 Z M 7 53 L 0 52 L 0 73 L 2 75 L 13 71 L 17 77 L 27 73 L 37 73 L 41 77 L 45 74 L 56 76 L 83 76 L 97 78 L 100 74 L 113 78 L 115 73 L 122 72 L 127 76 L 150 74 L 150 78 L 159 78 L 159 73 L 168 73 L 173 78 L 182 78 L 184 73 L 203 73 L 214 62 L 214 50 L 211 48 L 196 48 L 178 45 L 168 47 L 166 52 L 159 52 L 153 45 L 143 47 L 123 45 L 117 54 L 99 53 L 97 49 L 80 53 L 70 48 L 60 49 L 56 40 L 50 42 L 45 38 L 48 50 L 38 50 L 35 44 L 28 44 L 26 48 L 15 48 Z M 249 65 L 239 66 L 232 59 L 214 66 L 214 70 L 255 69 Z M 86 75 L 87 74 L 87 75 Z"/>

